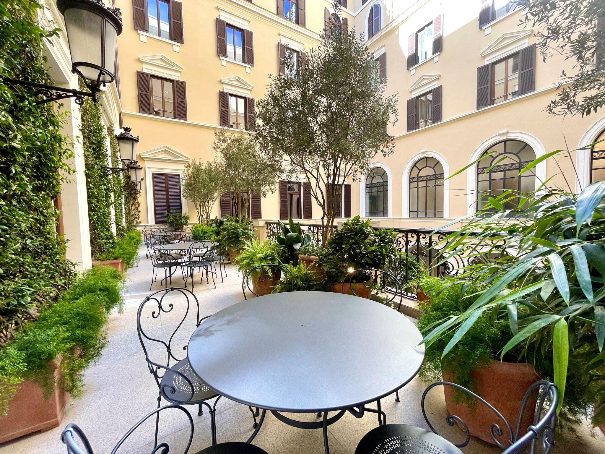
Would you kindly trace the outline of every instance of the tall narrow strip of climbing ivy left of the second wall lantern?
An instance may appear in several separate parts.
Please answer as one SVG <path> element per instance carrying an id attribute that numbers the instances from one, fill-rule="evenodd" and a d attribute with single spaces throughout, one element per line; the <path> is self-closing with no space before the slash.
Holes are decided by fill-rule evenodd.
<path id="1" fill-rule="evenodd" d="M 80 90 L 86 90 L 80 81 Z M 88 223 L 90 225 L 90 249 L 93 257 L 109 252 L 116 243 L 111 229 L 111 195 L 114 180 L 105 167 L 110 167 L 107 159 L 106 130 L 102 123 L 101 105 L 87 98 L 80 107 L 82 123 L 82 145 L 86 171 L 88 197 Z"/>

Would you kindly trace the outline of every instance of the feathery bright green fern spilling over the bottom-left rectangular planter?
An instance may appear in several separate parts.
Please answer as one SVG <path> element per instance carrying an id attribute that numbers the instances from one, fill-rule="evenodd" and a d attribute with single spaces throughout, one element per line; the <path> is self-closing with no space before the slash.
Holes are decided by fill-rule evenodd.
<path id="1" fill-rule="evenodd" d="M 103 324 L 112 309 L 122 308 L 124 280 L 117 269 L 94 267 L 0 349 L 0 417 L 24 380 L 39 384 L 45 396 L 55 387 L 80 395 L 82 371 L 99 358 L 106 344 Z M 59 358 L 56 383 L 52 363 Z"/>

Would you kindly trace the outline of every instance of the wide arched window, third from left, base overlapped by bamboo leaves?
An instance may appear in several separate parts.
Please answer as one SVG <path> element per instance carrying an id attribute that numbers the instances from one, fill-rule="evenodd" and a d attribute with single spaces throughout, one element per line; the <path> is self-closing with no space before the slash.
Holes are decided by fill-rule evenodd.
<path id="1" fill-rule="evenodd" d="M 535 159 L 535 152 L 527 143 L 504 140 L 490 146 L 482 156 L 477 165 L 477 210 L 483 209 L 489 197 L 499 197 L 505 191 L 517 197 L 508 200 L 504 208 L 517 208 L 520 196 L 535 191 L 534 173 L 518 176 Z"/>

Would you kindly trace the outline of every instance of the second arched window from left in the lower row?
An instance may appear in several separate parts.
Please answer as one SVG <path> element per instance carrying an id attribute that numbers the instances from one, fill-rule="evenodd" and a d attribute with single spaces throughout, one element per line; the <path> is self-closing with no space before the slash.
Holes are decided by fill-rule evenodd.
<path id="1" fill-rule="evenodd" d="M 443 217 L 443 166 L 434 157 L 417 160 L 410 171 L 410 217 Z"/>

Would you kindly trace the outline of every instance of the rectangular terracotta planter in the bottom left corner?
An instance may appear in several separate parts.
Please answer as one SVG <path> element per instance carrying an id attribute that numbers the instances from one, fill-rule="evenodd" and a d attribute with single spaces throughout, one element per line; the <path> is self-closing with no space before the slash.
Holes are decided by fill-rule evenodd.
<path id="1" fill-rule="evenodd" d="M 59 378 L 60 361 L 60 358 L 53 361 L 56 379 Z M 59 426 L 69 397 L 69 393 L 56 389 L 50 398 L 44 399 L 37 384 L 22 382 L 15 398 L 8 403 L 8 414 L 0 418 L 0 443 Z"/>

